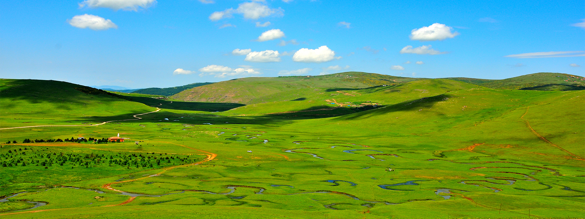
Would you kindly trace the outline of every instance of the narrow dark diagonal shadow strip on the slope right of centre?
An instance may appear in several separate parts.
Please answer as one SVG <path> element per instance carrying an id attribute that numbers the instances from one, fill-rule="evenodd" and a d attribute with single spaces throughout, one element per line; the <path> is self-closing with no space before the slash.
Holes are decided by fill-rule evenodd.
<path id="1" fill-rule="evenodd" d="M 369 117 L 369 116 L 380 116 L 387 113 L 398 112 L 398 111 L 411 111 L 411 110 L 419 110 L 419 109 L 429 109 L 435 106 L 436 103 L 442 102 L 452 98 L 452 95 L 437 95 L 431 96 L 428 98 L 421 98 L 416 100 L 410 100 L 407 102 L 397 103 L 394 105 L 388 105 L 385 107 L 380 107 L 374 110 L 367 110 L 361 113 L 350 114 L 347 116 L 340 117 L 339 120 L 352 120 L 352 119 L 361 119 L 361 117 Z"/>

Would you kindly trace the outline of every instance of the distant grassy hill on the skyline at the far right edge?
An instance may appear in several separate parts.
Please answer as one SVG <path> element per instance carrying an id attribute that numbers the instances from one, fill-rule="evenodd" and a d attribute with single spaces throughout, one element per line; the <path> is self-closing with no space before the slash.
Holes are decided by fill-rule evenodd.
<path id="1" fill-rule="evenodd" d="M 541 91 L 576 90 L 585 86 L 585 79 L 577 75 L 541 72 L 480 84 L 486 88 L 531 89 Z M 555 86 L 566 85 L 566 86 Z"/>

